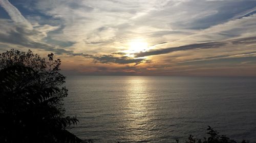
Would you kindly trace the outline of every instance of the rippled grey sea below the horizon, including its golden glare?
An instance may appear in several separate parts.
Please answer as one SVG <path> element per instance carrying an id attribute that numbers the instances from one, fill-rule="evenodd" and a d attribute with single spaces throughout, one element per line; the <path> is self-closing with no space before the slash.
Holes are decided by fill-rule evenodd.
<path id="1" fill-rule="evenodd" d="M 68 76 L 69 130 L 94 142 L 175 142 L 207 136 L 256 141 L 255 77 Z"/>

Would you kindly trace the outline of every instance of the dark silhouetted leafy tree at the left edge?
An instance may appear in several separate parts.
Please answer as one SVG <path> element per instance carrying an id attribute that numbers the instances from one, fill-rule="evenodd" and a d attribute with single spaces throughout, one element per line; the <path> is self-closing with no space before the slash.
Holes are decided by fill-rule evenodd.
<path id="1" fill-rule="evenodd" d="M 48 58 L 31 50 L 0 54 L 0 142 L 82 142 L 66 130 L 78 120 L 62 107 L 61 61 Z"/>

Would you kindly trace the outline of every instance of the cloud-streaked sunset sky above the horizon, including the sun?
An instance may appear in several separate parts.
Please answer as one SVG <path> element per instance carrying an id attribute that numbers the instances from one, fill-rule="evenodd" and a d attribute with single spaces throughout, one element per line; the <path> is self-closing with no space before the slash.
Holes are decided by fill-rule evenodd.
<path id="1" fill-rule="evenodd" d="M 0 0 L 0 52 L 79 75 L 256 76 L 256 1 Z"/>

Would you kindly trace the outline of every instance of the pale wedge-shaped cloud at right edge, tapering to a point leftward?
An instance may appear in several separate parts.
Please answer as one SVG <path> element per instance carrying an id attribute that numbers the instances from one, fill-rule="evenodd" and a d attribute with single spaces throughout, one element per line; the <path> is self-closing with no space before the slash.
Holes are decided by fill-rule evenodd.
<path id="1" fill-rule="evenodd" d="M 230 38 L 253 37 L 256 35 L 256 32 L 251 30 L 256 28 L 255 20 L 255 14 L 230 20 L 225 23 L 211 26 L 205 30 L 198 31 L 195 34 L 184 36 L 182 39 L 177 40 L 177 42 L 188 41 L 194 43 L 228 40 Z"/>

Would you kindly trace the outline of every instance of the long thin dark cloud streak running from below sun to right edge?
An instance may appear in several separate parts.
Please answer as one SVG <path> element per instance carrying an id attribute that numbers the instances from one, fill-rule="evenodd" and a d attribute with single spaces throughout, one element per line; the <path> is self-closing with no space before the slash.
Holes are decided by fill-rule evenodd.
<path id="1" fill-rule="evenodd" d="M 210 48 L 220 48 L 226 45 L 235 45 L 235 44 L 252 44 L 256 43 L 256 37 L 248 37 L 248 38 L 241 38 L 241 39 L 234 39 L 234 40 L 227 40 L 221 42 L 207 42 L 207 43 L 200 43 L 200 44 L 191 44 L 179 47 L 169 47 L 165 49 L 158 49 L 158 50 L 150 50 L 146 52 L 139 52 L 135 53 L 137 58 L 148 56 L 148 55 L 159 55 L 159 54 L 166 54 L 174 51 L 184 51 L 184 50 L 193 50 L 193 49 L 210 49 Z"/>

